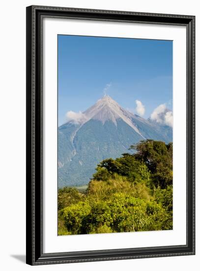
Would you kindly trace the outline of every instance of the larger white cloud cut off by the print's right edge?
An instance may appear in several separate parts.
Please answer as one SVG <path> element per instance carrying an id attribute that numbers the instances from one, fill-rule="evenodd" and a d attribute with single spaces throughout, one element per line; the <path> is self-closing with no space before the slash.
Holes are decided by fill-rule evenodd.
<path id="1" fill-rule="evenodd" d="M 173 113 L 164 103 L 154 109 L 150 119 L 162 125 L 173 126 Z"/>

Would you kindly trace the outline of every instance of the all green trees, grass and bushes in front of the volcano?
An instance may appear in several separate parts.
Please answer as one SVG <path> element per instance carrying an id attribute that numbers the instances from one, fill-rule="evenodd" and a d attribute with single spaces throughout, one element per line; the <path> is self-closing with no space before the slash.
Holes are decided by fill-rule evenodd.
<path id="1" fill-rule="evenodd" d="M 58 191 L 58 235 L 172 229 L 172 143 L 143 140 L 97 165 L 87 188 Z"/>

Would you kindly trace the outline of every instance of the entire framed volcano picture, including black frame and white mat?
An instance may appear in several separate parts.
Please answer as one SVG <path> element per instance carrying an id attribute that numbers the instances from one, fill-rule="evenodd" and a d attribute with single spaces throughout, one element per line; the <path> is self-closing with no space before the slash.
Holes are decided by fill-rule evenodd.
<path id="1" fill-rule="evenodd" d="M 195 254 L 195 16 L 27 7 L 29 265 Z"/>

